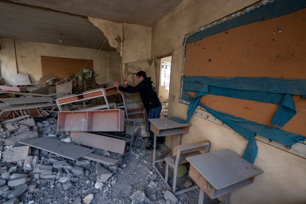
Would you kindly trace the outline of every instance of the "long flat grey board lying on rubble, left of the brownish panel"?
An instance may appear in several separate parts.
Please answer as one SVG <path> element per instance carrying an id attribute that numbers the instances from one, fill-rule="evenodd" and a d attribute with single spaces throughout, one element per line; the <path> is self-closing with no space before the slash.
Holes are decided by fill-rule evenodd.
<path id="1" fill-rule="evenodd" d="M 93 149 L 47 137 L 22 140 L 19 143 L 36 147 L 38 149 L 43 149 L 71 160 L 79 159 L 94 151 Z"/>

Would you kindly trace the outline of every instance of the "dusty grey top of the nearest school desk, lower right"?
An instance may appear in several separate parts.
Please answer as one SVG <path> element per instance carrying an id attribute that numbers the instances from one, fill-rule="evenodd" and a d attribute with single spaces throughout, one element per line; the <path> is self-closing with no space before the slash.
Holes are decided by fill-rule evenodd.
<path id="1" fill-rule="evenodd" d="M 230 149 L 187 157 L 187 161 L 217 190 L 263 172 Z"/>

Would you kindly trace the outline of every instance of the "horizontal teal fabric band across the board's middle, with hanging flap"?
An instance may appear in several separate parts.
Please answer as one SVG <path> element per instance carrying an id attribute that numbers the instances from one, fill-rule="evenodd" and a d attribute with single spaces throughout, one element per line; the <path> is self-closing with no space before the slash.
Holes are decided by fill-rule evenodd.
<path id="1" fill-rule="evenodd" d="M 271 124 L 282 127 L 296 114 L 291 94 L 306 95 L 306 80 L 278 78 L 183 77 L 182 94 L 207 87 L 212 95 L 279 105 Z"/>

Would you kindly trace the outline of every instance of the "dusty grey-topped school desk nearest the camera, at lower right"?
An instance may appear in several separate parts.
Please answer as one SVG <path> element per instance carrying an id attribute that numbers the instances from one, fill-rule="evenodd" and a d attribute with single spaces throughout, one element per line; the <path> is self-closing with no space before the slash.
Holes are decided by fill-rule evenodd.
<path id="1" fill-rule="evenodd" d="M 228 203 L 230 192 L 253 183 L 254 176 L 263 173 L 229 149 L 186 159 L 190 163 L 189 176 L 200 187 L 199 204 L 203 203 L 204 192 L 211 199 L 225 195 L 224 203 Z"/>

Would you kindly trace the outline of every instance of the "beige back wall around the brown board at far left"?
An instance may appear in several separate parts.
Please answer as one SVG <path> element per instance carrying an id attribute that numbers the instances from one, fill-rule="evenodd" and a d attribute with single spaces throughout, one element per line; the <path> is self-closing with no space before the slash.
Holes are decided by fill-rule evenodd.
<path id="1" fill-rule="evenodd" d="M 9 66 L 9 69 L 5 69 L 5 67 L 2 68 L 5 69 L 3 77 L 8 85 L 12 85 L 11 79 L 15 79 L 17 71 L 29 73 L 32 82 L 38 81 L 42 77 L 40 56 L 90 59 L 96 52 L 95 49 L 89 48 L 15 41 L 15 60 L 14 41 L 2 39 L 0 41 L 1 44 L 2 41 L 9 45 L 5 47 L 2 46 L 2 52 L 10 53 L 10 55 L 8 55 L 10 56 L 8 62 L 12 64 Z M 99 50 L 92 60 L 93 70 L 98 74 L 98 77 L 96 78 L 97 83 L 105 84 L 119 80 L 118 76 L 120 76 L 121 62 L 119 53 Z M 17 66 L 13 66 L 16 62 Z"/>

